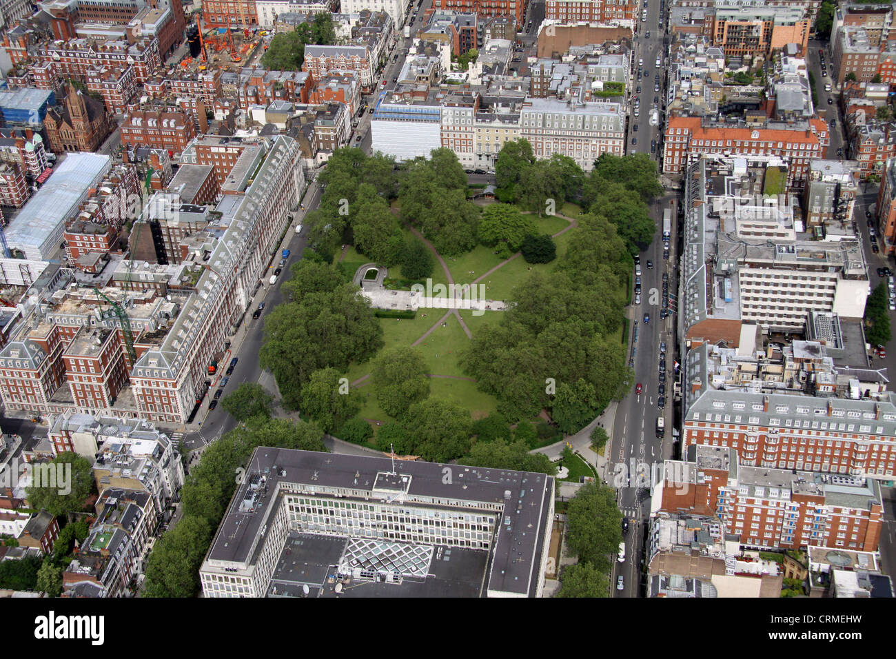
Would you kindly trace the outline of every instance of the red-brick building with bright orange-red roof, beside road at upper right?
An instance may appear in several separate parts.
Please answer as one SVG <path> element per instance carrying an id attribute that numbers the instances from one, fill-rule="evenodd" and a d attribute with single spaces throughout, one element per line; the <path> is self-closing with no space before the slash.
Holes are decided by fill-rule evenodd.
<path id="1" fill-rule="evenodd" d="M 691 155 L 777 155 L 788 158 L 788 186 L 802 187 L 809 160 L 825 157 L 831 136 L 822 119 L 809 119 L 805 128 L 749 128 L 715 126 L 701 117 L 670 117 L 663 145 L 663 172 L 681 174 Z"/>

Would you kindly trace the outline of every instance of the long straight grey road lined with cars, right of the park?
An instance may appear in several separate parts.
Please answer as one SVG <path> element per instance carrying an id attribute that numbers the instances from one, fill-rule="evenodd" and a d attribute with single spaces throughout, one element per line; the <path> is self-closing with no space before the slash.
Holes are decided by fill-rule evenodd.
<path id="1" fill-rule="evenodd" d="M 665 3 L 651 2 L 647 6 L 647 22 L 642 22 L 635 35 L 633 54 L 633 81 L 631 88 L 631 106 L 629 108 L 628 152 L 650 153 L 650 142 L 656 140 L 656 149 L 652 156 L 659 158 L 662 116 L 659 126 L 650 126 L 650 111 L 658 113 L 665 108 L 666 75 L 663 30 L 657 30 L 660 13 L 665 13 Z M 640 17 L 639 17 L 640 18 Z M 648 37 L 648 34 L 650 37 Z M 661 58 L 661 65 L 656 66 L 656 58 Z M 638 79 L 638 60 L 643 60 L 642 77 Z M 654 84 L 659 75 L 659 91 Z M 637 91 L 641 87 L 641 92 Z M 640 100 L 640 112 L 634 117 L 634 99 Z M 655 102 L 656 100 L 656 102 Z M 637 126 L 637 129 L 635 129 Z M 631 333 L 637 330 L 637 343 L 633 343 L 633 368 L 636 383 L 641 383 L 642 394 L 633 393 L 620 401 L 616 408 L 616 418 L 610 445 L 609 460 L 614 464 L 613 481 L 619 487 L 617 500 L 624 516 L 629 519 L 628 533 L 625 534 L 625 562 L 614 563 L 612 575 L 613 593 L 617 597 L 637 597 L 640 593 L 641 564 L 643 559 L 643 535 L 650 516 L 650 470 L 651 464 L 661 462 L 671 456 L 671 432 L 666 438 L 657 438 L 656 422 L 660 414 L 665 414 L 666 427 L 671 424 L 671 392 L 674 380 L 673 360 L 675 341 L 673 338 L 674 316 L 660 319 L 659 311 L 662 303 L 662 275 L 668 273 L 670 286 L 676 281 L 673 268 L 675 264 L 675 245 L 669 260 L 663 259 L 663 242 L 661 239 L 663 209 L 676 199 L 669 194 L 657 200 L 650 209 L 651 216 L 657 222 L 658 231 L 650 247 L 641 254 L 642 269 L 642 302 L 632 305 L 630 318 Z M 652 267 L 647 262 L 652 262 Z M 674 290 L 671 291 L 674 294 Z M 633 297 L 634 300 L 634 297 Z M 644 314 L 650 314 L 650 322 L 643 322 Z M 668 401 L 663 410 L 659 409 L 659 343 L 667 344 L 665 382 L 665 398 Z M 639 475 L 641 474 L 641 475 Z M 623 576 L 624 589 L 616 590 L 616 579 Z"/>

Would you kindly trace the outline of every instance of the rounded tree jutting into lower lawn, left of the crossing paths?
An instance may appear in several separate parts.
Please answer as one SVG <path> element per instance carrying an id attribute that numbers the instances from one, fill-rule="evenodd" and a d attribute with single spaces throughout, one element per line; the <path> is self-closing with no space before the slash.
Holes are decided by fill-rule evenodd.
<path id="1" fill-rule="evenodd" d="M 383 412 L 401 419 L 412 404 L 425 400 L 429 395 L 428 370 L 423 355 L 414 348 L 383 351 L 371 374 L 376 402 Z"/>

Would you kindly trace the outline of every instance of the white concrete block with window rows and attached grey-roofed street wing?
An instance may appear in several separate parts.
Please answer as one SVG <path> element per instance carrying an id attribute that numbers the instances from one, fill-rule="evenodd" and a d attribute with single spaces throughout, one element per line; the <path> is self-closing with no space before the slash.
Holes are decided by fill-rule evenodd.
<path id="1" fill-rule="evenodd" d="M 773 157 L 689 166 L 677 309 L 683 342 L 737 346 L 744 324 L 793 333 L 810 312 L 864 316 L 867 264 L 851 221 L 834 217 L 807 232 L 794 217 L 795 197 L 769 193 L 786 178 Z"/>

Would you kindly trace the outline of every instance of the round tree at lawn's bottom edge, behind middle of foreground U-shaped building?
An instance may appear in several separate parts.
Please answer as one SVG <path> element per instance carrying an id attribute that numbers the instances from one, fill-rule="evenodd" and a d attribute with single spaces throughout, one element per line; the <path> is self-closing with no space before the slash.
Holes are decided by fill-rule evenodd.
<path id="1" fill-rule="evenodd" d="M 414 455 L 444 463 L 470 450 L 473 420 L 456 403 L 428 398 L 410 406 L 405 427 Z"/>

